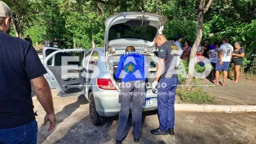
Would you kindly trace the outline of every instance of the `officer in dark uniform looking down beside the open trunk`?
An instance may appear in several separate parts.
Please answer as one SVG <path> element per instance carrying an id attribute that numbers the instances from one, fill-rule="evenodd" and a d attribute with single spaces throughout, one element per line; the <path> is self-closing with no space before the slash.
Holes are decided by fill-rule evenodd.
<path id="1" fill-rule="evenodd" d="M 180 61 L 181 52 L 176 44 L 167 41 L 164 35 L 158 35 L 155 39 L 158 50 L 158 67 L 153 90 L 158 84 L 157 105 L 160 126 L 151 130 L 152 134 L 174 134 L 174 102 L 178 85 L 177 65 Z"/>

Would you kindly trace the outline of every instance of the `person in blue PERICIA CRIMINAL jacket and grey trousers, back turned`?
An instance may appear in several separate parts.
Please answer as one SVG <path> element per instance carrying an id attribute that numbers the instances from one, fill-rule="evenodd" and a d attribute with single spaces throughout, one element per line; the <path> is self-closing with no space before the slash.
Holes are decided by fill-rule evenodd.
<path id="1" fill-rule="evenodd" d="M 122 80 L 121 92 L 118 102 L 121 103 L 117 125 L 117 144 L 121 144 L 127 135 L 127 121 L 130 103 L 133 102 L 133 136 L 134 142 L 139 142 L 141 136 L 142 104 L 145 101 L 145 74 L 144 54 L 136 52 L 133 46 L 126 48 L 126 53 L 121 55 L 116 79 Z"/>

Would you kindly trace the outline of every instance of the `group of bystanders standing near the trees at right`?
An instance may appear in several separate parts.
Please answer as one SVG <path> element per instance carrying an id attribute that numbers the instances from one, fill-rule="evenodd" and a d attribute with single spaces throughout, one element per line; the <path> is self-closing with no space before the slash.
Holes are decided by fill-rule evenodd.
<path id="1" fill-rule="evenodd" d="M 182 37 L 178 35 L 176 45 L 181 48 Z M 197 48 L 197 62 L 200 66 L 204 66 L 204 59 L 209 59 L 212 64 L 211 75 L 208 79 L 212 81 L 215 85 L 226 85 L 226 80 L 228 77 L 229 65 L 231 63 L 232 69 L 234 69 L 234 80 L 231 81 L 232 84 L 237 84 L 239 82 L 240 67 L 242 65 L 243 57 L 245 56 L 245 49 L 242 48 L 241 42 L 235 43 L 235 49 L 231 44 L 229 44 L 229 39 L 224 38 L 222 44 L 214 43 L 210 44 L 209 39 L 205 39 L 204 43 Z M 185 61 L 190 60 L 190 54 L 192 47 L 188 41 L 184 42 L 182 47 L 181 59 Z M 219 84 L 219 75 L 223 71 L 224 79 Z M 205 80 L 203 78 L 202 80 Z"/>

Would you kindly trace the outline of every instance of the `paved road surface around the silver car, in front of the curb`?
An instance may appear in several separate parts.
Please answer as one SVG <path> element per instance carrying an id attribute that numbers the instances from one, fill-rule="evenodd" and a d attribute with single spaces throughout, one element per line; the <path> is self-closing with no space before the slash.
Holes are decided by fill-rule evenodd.
<path id="1" fill-rule="evenodd" d="M 57 118 L 56 128 L 47 132 L 42 126 L 45 112 L 33 97 L 39 115 L 38 143 L 41 144 L 113 144 L 117 117 L 108 117 L 101 126 L 93 126 L 89 117 L 89 103 L 84 96 L 61 98 L 53 90 Z M 144 113 L 143 144 L 256 144 L 256 113 L 176 112 L 175 135 L 154 136 L 150 129 L 158 127 L 156 112 Z M 133 144 L 131 118 L 124 144 Z"/>

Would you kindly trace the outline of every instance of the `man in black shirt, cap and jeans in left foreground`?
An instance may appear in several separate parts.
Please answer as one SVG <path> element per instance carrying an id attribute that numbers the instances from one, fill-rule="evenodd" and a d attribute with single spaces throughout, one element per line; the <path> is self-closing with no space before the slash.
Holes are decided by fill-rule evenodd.
<path id="1" fill-rule="evenodd" d="M 37 144 L 31 83 L 46 111 L 44 125 L 55 126 L 53 99 L 47 73 L 31 43 L 11 37 L 10 8 L 0 1 L 0 144 Z"/>

